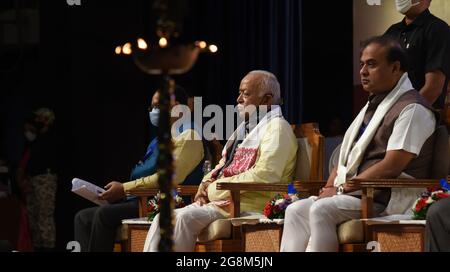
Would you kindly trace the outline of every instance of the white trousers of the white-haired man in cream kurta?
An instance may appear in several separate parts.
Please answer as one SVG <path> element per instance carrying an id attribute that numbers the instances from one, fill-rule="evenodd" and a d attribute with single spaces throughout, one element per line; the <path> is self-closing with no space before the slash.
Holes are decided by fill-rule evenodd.
<path id="1" fill-rule="evenodd" d="M 174 249 L 177 252 L 194 251 L 195 242 L 200 232 L 210 223 L 224 218 L 211 205 L 199 206 L 191 204 L 175 210 L 175 226 L 173 233 Z M 157 252 L 161 238 L 159 229 L 159 214 L 153 219 L 145 240 L 144 252 Z"/>

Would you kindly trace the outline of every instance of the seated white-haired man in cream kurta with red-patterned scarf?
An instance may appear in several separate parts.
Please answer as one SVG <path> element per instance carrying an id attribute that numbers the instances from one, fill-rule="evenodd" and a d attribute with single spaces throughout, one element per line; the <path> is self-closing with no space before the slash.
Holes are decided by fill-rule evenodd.
<path id="1" fill-rule="evenodd" d="M 242 79 L 238 112 L 244 120 L 222 152 L 222 160 L 199 186 L 195 203 L 175 210 L 176 251 L 193 251 L 200 232 L 215 220 L 230 216 L 229 191 L 216 189 L 219 182 L 288 183 L 295 171 L 297 140 L 283 118 L 280 85 L 266 71 L 252 71 Z M 241 193 L 242 212 L 262 212 L 269 194 Z M 153 221 L 144 251 L 158 250 L 159 215 Z"/>

